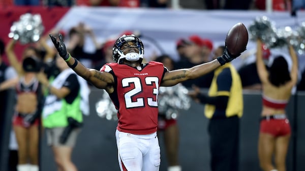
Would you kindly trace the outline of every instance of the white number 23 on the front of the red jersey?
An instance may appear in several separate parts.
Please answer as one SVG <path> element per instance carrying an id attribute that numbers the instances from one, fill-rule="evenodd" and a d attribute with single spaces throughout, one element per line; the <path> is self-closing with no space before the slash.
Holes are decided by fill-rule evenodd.
<path id="1" fill-rule="evenodd" d="M 154 86 L 154 83 L 156 85 L 156 88 L 152 87 Z M 134 89 L 128 91 L 125 93 L 124 98 L 125 98 L 125 103 L 126 103 L 126 107 L 127 108 L 134 108 L 134 107 L 144 107 L 144 98 L 137 98 L 136 101 L 132 101 L 132 98 L 135 95 L 140 94 L 141 92 L 143 92 L 143 87 L 141 84 L 141 80 L 139 77 L 130 77 L 130 78 L 124 78 L 122 79 L 122 85 L 123 88 L 127 88 L 130 87 L 130 84 L 134 84 Z M 157 107 L 158 106 L 158 88 L 159 88 L 159 78 L 158 77 L 145 77 L 145 84 L 147 86 L 145 86 L 146 88 L 149 88 L 151 86 L 151 98 L 147 98 L 147 104 L 149 106 L 153 106 L 153 107 Z M 154 101 L 154 98 L 156 99 L 156 101 Z"/>

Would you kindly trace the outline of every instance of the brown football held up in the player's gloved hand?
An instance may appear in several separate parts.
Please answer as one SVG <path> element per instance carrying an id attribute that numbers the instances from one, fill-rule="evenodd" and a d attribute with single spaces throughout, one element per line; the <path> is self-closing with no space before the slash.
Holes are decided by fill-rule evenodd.
<path id="1" fill-rule="evenodd" d="M 227 33 L 226 46 L 230 54 L 238 55 L 246 50 L 248 30 L 242 23 L 235 24 Z"/>

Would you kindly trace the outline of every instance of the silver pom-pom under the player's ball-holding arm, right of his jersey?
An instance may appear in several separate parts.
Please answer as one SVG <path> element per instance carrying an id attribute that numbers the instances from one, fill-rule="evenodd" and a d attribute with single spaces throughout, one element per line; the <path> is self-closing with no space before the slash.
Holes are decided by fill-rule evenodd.
<path id="1" fill-rule="evenodd" d="M 173 87 L 160 87 L 158 98 L 159 113 L 164 113 L 166 118 L 177 118 L 178 110 L 187 110 L 191 107 L 188 89 L 182 84 Z"/>

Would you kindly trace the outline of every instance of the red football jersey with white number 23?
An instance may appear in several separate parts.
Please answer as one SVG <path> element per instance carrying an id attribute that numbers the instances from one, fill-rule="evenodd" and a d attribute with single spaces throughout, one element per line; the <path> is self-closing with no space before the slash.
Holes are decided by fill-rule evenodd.
<path id="1" fill-rule="evenodd" d="M 117 130 L 131 134 L 151 134 L 158 126 L 158 94 L 167 69 L 151 61 L 141 67 L 108 63 L 100 71 L 114 77 L 114 92 L 109 94 L 118 110 Z"/>

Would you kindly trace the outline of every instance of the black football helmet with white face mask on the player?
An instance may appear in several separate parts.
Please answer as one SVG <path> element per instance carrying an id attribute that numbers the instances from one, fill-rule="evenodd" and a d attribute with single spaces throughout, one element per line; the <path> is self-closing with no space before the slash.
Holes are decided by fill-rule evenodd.
<path id="1" fill-rule="evenodd" d="M 123 45 L 125 45 L 127 42 L 133 42 L 135 46 L 128 46 L 126 48 L 137 48 L 139 52 L 130 52 L 127 53 L 126 55 L 123 53 L 123 51 L 126 49 L 123 49 Z M 138 61 L 138 60 L 143 60 L 143 55 L 144 55 L 144 46 L 142 41 L 136 37 L 134 34 L 130 35 L 122 35 L 119 37 L 116 41 L 115 44 L 112 48 L 112 57 L 113 61 L 116 63 L 120 63 L 121 59 L 126 59 L 128 61 Z"/>

